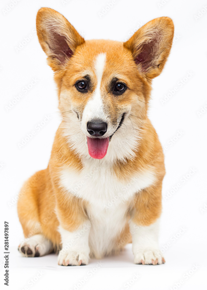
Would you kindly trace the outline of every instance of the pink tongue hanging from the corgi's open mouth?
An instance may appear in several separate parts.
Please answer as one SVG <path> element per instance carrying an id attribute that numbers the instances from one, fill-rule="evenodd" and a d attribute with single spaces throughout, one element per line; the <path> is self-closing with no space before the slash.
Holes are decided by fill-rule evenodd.
<path id="1" fill-rule="evenodd" d="M 102 159 L 109 146 L 109 137 L 107 138 L 89 138 L 87 137 L 88 153 L 92 158 Z"/>

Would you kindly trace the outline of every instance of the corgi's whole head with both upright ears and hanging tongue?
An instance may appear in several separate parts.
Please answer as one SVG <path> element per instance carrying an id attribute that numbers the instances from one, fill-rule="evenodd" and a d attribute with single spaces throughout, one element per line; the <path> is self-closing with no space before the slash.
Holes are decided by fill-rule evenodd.
<path id="1" fill-rule="evenodd" d="M 57 11 L 41 8 L 37 34 L 55 72 L 70 146 L 102 159 L 131 157 L 147 120 L 152 78 L 167 60 L 174 26 L 156 18 L 126 42 L 84 40 Z M 89 155 L 88 155 L 89 153 Z"/>

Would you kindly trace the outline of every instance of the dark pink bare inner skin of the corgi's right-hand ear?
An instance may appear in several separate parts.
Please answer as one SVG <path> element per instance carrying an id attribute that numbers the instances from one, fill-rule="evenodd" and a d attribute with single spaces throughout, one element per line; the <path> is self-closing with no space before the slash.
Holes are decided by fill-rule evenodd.
<path id="1" fill-rule="evenodd" d="M 153 39 L 150 42 L 143 44 L 141 52 L 135 57 L 135 63 L 141 64 L 143 70 L 147 70 L 152 63 L 156 43 L 156 39 Z"/>

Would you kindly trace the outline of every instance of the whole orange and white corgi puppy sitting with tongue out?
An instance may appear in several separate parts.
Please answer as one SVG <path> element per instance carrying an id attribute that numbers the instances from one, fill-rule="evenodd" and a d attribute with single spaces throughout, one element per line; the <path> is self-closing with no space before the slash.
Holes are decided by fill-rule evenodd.
<path id="1" fill-rule="evenodd" d="M 49 165 L 18 199 L 25 257 L 58 251 L 86 265 L 132 242 L 135 264 L 165 262 L 158 247 L 164 156 L 147 117 L 152 79 L 169 55 L 174 25 L 156 18 L 126 42 L 85 40 L 41 8 L 37 35 L 54 71 L 62 121 Z"/>

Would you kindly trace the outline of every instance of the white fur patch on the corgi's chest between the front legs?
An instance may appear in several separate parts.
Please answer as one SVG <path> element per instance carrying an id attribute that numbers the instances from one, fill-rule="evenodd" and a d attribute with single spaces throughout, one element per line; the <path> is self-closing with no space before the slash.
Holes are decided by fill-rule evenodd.
<path id="1" fill-rule="evenodd" d="M 60 180 L 66 193 L 88 201 L 89 246 L 96 258 L 100 258 L 113 250 L 115 237 L 126 224 L 130 200 L 155 181 L 155 174 L 148 170 L 137 173 L 128 182 L 121 182 L 108 165 L 97 161 L 87 162 L 79 172 L 62 169 Z"/>

